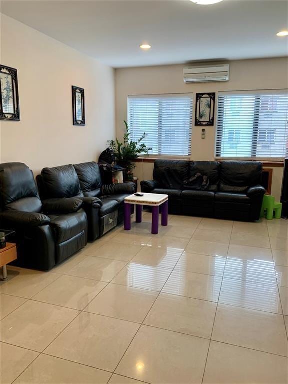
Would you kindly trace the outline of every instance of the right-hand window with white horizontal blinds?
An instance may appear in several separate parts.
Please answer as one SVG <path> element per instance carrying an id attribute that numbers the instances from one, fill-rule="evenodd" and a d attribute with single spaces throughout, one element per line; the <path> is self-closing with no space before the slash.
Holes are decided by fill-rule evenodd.
<path id="1" fill-rule="evenodd" d="M 288 155 L 288 94 L 219 93 L 216 157 Z"/>

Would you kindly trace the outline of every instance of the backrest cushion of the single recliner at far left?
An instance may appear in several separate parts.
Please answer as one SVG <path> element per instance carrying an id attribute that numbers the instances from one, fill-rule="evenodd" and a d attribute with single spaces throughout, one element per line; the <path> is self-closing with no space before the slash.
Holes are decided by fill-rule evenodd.
<path id="1" fill-rule="evenodd" d="M 4 209 L 40 212 L 39 199 L 32 171 L 21 162 L 1 164 L 1 206 Z"/>

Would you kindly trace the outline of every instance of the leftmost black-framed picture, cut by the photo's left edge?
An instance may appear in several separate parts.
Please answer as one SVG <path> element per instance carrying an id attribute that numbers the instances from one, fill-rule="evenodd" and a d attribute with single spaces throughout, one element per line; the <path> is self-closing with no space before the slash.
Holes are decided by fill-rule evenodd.
<path id="1" fill-rule="evenodd" d="M 20 120 L 17 69 L 5 65 L 0 65 L 0 119 Z"/>

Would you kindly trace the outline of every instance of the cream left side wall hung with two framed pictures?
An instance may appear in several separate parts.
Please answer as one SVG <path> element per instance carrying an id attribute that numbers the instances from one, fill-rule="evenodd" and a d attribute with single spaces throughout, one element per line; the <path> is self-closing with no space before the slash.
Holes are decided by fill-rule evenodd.
<path id="1" fill-rule="evenodd" d="M 21 121 L 1 121 L 1 162 L 97 160 L 115 137 L 114 69 L 1 15 L 1 64 L 18 70 Z M 86 126 L 72 121 L 71 86 L 85 89 Z"/>

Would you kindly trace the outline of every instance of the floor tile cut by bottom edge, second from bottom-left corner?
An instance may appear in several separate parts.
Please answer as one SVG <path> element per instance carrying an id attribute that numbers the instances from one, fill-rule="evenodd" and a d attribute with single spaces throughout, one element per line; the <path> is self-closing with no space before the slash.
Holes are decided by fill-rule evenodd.
<path id="1" fill-rule="evenodd" d="M 15 384 L 104 384 L 111 373 L 41 354 Z"/>

